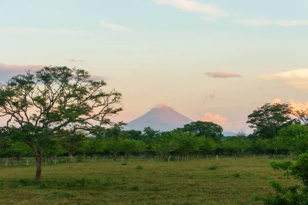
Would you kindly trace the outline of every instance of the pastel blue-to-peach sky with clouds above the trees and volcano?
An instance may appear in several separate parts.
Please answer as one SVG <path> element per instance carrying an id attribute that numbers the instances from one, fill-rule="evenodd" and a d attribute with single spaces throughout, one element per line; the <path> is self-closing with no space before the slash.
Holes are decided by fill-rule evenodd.
<path id="1" fill-rule="evenodd" d="M 67 66 L 123 94 L 129 122 L 164 103 L 225 131 L 265 103 L 308 108 L 307 0 L 0 0 L 0 81 Z"/>

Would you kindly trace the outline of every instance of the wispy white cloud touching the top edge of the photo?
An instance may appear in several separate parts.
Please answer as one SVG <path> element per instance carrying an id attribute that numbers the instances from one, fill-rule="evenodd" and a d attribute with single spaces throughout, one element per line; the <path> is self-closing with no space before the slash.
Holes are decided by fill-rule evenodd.
<path id="1" fill-rule="evenodd" d="M 170 5 L 189 12 L 206 13 L 208 16 L 211 17 L 228 16 L 228 13 L 226 11 L 216 8 L 211 4 L 202 4 L 190 0 L 157 0 L 156 4 Z"/>

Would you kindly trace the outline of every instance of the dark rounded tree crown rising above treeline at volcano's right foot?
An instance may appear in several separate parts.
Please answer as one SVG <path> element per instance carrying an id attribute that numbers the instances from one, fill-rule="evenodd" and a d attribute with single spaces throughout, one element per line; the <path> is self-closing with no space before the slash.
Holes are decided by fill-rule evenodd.
<path id="1" fill-rule="evenodd" d="M 195 134 L 195 136 L 205 136 L 213 138 L 215 141 L 220 141 L 223 137 L 222 127 L 214 122 L 196 121 L 184 125 L 185 132 Z"/>

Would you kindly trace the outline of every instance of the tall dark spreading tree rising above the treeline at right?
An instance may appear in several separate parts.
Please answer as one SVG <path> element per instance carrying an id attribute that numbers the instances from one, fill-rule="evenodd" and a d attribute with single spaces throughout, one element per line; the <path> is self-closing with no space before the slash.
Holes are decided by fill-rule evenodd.
<path id="1" fill-rule="evenodd" d="M 248 115 L 247 123 L 259 137 L 275 138 L 280 129 L 298 122 L 291 114 L 290 104 L 265 104 Z"/>

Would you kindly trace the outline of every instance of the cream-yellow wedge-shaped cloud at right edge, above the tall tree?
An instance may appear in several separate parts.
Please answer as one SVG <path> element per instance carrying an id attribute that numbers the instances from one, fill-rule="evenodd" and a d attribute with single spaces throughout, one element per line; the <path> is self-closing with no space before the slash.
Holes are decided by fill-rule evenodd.
<path id="1" fill-rule="evenodd" d="M 301 68 L 280 73 L 273 73 L 259 76 L 265 80 L 281 81 L 285 85 L 307 90 L 308 89 L 308 69 Z"/>

